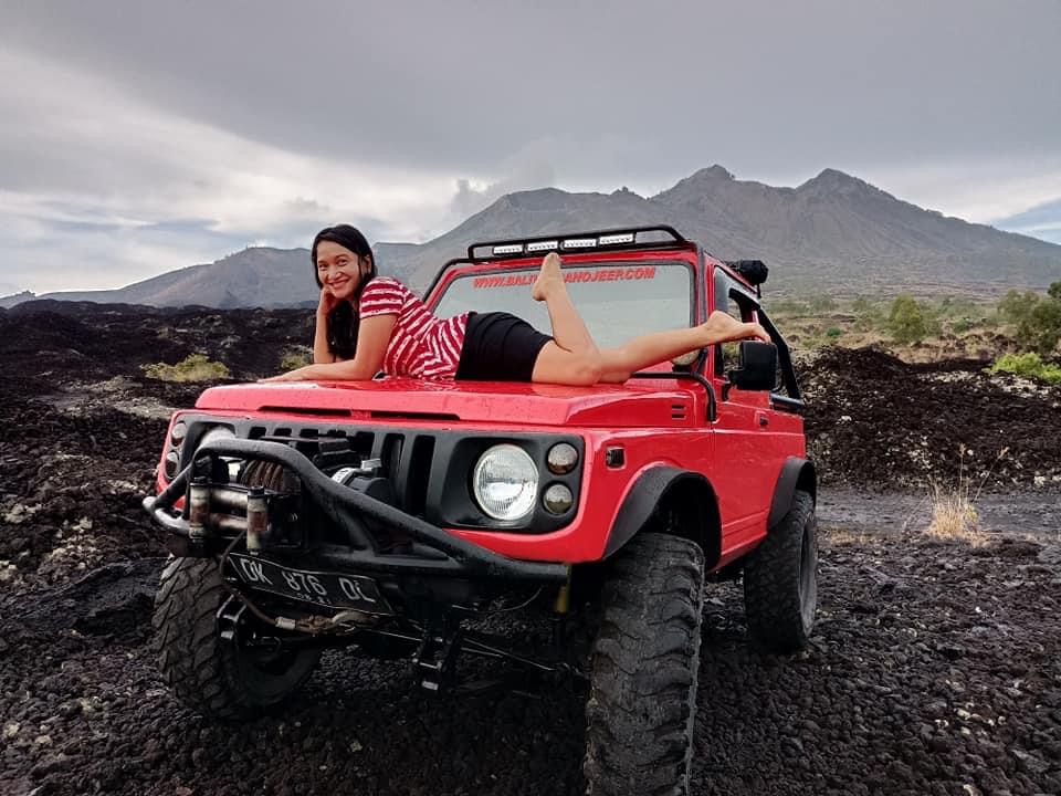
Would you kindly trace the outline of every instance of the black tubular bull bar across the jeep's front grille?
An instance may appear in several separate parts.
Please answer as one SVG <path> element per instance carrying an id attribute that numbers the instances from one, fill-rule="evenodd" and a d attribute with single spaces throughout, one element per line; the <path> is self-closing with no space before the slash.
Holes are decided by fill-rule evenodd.
<path id="1" fill-rule="evenodd" d="M 565 583 L 566 564 L 508 558 L 443 531 L 400 509 L 344 486 L 321 472 L 305 455 L 282 442 L 222 439 L 207 442 L 192 462 L 178 473 L 158 495 L 147 496 L 144 509 L 157 525 L 170 534 L 190 541 L 189 520 L 174 504 L 189 492 L 192 478 L 212 472 L 218 457 L 256 459 L 284 467 L 302 482 L 303 491 L 347 535 L 348 545 L 319 544 L 312 549 L 321 564 L 342 570 L 393 575 L 438 575 L 470 579 L 534 580 Z M 202 468 L 202 462 L 207 467 Z M 186 502 L 187 506 L 187 502 Z M 411 553 L 381 553 L 359 517 L 370 517 L 403 531 L 413 541 Z"/>

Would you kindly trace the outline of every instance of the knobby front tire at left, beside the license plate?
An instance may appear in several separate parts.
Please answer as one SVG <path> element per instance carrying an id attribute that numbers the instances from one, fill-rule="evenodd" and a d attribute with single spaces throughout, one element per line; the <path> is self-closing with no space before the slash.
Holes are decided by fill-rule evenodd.
<path id="1" fill-rule="evenodd" d="M 216 561 L 175 558 L 155 596 L 155 649 L 162 677 L 183 704 L 210 719 L 240 721 L 291 696 L 321 651 L 271 652 L 222 640 L 217 614 L 228 596 Z"/>

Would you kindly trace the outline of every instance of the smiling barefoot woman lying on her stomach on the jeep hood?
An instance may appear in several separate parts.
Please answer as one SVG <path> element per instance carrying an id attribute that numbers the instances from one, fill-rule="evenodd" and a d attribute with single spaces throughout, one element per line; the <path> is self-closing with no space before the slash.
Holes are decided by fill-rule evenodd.
<path id="1" fill-rule="evenodd" d="M 551 337 L 510 313 L 435 317 L 401 282 L 377 275 L 368 241 L 348 224 L 321 230 L 311 258 L 321 287 L 314 364 L 266 381 L 370 379 L 382 370 L 435 380 L 622 383 L 637 370 L 716 343 L 770 339 L 757 323 L 713 312 L 700 326 L 598 348 L 567 294 L 555 252 L 542 261 L 530 287 L 532 297 L 548 308 Z"/>

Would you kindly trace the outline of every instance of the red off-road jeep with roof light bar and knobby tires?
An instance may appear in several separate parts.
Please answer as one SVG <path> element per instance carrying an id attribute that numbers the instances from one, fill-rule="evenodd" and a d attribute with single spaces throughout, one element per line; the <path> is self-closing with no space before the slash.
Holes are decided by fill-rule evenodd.
<path id="1" fill-rule="evenodd" d="M 765 650 L 798 650 L 811 631 L 802 401 L 760 303 L 765 266 L 722 262 L 669 227 L 474 244 L 427 302 L 548 329 L 529 286 L 553 250 L 602 346 L 713 310 L 757 320 L 773 344 L 716 346 L 623 385 L 207 389 L 174 415 L 144 501 L 174 556 L 154 621 L 181 701 L 253 716 L 345 646 L 459 692 L 458 659 L 481 656 L 588 683 L 590 793 L 686 792 L 705 584 L 743 577 Z M 543 632 L 515 643 L 481 629 L 514 608 Z"/>

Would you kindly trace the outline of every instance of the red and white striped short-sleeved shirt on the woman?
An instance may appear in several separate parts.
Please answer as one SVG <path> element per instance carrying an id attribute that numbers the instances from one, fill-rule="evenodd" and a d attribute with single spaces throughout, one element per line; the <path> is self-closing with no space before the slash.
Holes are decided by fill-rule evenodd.
<path id="1" fill-rule="evenodd" d="M 358 311 L 363 318 L 398 316 L 384 355 L 388 375 L 437 380 L 456 375 L 469 313 L 437 318 L 412 291 L 389 276 L 377 276 L 365 285 Z"/>

